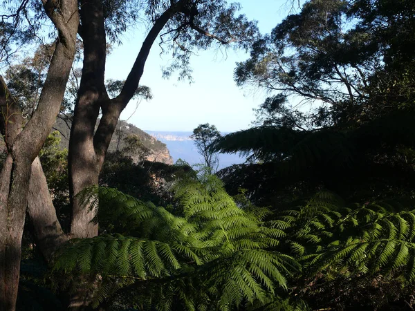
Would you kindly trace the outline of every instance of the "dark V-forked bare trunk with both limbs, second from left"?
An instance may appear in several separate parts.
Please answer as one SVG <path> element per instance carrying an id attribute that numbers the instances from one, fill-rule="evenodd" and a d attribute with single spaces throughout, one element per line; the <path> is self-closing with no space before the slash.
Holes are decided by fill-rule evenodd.
<path id="1" fill-rule="evenodd" d="M 122 110 L 138 88 L 151 46 L 167 21 L 186 3 L 187 0 L 178 1 L 156 20 L 142 44 L 120 95 L 109 100 L 104 85 L 107 44 L 102 2 L 99 0 L 81 1 L 84 66 L 75 104 L 68 153 L 69 189 L 73 206 L 71 235 L 74 237 L 87 238 L 98 234 L 98 225 L 91 223 L 95 211 L 91 211 L 88 206 L 82 206 L 80 200 L 77 199 L 77 194 L 86 187 L 98 185 L 100 171 L 113 132 Z M 102 118 L 94 133 L 100 109 L 102 109 Z"/>

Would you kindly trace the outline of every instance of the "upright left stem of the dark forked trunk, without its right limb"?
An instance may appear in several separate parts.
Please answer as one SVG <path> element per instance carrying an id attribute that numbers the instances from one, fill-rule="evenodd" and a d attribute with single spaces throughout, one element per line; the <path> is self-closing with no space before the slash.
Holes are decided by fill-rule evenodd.
<path id="1" fill-rule="evenodd" d="M 76 195 L 86 187 L 98 185 L 100 167 L 93 148 L 93 134 L 100 102 L 109 97 L 104 85 L 107 42 L 102 1 L 83 0 L 81 8 L 84 64 L 69 140 L 68 169 L 73 211 L 71 235 L 86 238 L 98 234 L 98 225 L 91 223 L 94 211 L 80 204 Z"/>

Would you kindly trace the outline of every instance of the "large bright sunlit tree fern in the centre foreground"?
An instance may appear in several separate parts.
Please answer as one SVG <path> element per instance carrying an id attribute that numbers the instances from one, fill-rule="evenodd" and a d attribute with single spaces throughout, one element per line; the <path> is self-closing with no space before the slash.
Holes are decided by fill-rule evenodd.
<path id="1" fill-rule="evenodd" d="M 264 227 L 259 215 L 238 207 L 214 176 L 181 180 L 175 188 L 178 205 L 171 211 L 115 189 L 85 191 L 84 200 L 99 201 L 100 222 L 112 227 L 73 240 L 55 269 L 99 275 L 97 305 L 143 284 L 147 290 L 136 299 L 154 301 L 158 310 L 169 310 L 175 299 L 188 310 L 230 310 L 286 290 L 299 265 L 268 250 L 284 231 Z"/>

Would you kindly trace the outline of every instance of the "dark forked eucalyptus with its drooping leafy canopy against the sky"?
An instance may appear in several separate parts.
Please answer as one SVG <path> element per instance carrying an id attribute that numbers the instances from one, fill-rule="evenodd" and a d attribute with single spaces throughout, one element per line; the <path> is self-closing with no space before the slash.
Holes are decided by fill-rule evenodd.
<path id="1" fill-rule="evenodd" d="M 161 44 L 172 49 L 174 62 L 167 72 L 179 70 L 184 77 L 189 73 L 189 58 L 194 49 L 208 48 L 215 41 L 225 46 L 250 46 L 250 40 L 257 33 L 256 24 L 242 15 L 237 16 L 238 8 L 234 4 L 228 6 L 225 1 L 81 1 L 78 33 L 84 46 L 83 67 L 68 155 L 72 236 L 98 233 L 98 227 L 90 222 L 93 214 L 80 206 L 76 194 L 98 184 L 118 117 L 138 88 L 145 61 L 156 39 L 160 37 Z M 118 38 L 118 33 L 139 13 L 134 10 L 140 10 L 148 19 L 150 29 L 120 93 L 110 98 L 104 84 L 107 37 Z M 94 133 L 100 112 L 102 117 Z"/>

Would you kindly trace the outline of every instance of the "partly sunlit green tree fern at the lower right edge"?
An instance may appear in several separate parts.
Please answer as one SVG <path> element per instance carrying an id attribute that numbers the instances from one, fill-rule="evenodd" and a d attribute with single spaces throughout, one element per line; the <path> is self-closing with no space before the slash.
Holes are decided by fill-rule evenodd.
<path id="1" fill-rule="evenodd" d="M 290 224 L 283 242 L 299 255 L 305 276 L 324 271 L 347 277 L 398 273 L 403 283 L 412 283 L 415 210 L 394 211 L 383 202 L 348 208 L 329 197 L 315 196 L 305 207 L 282 211 L 275 220 Z"/>

